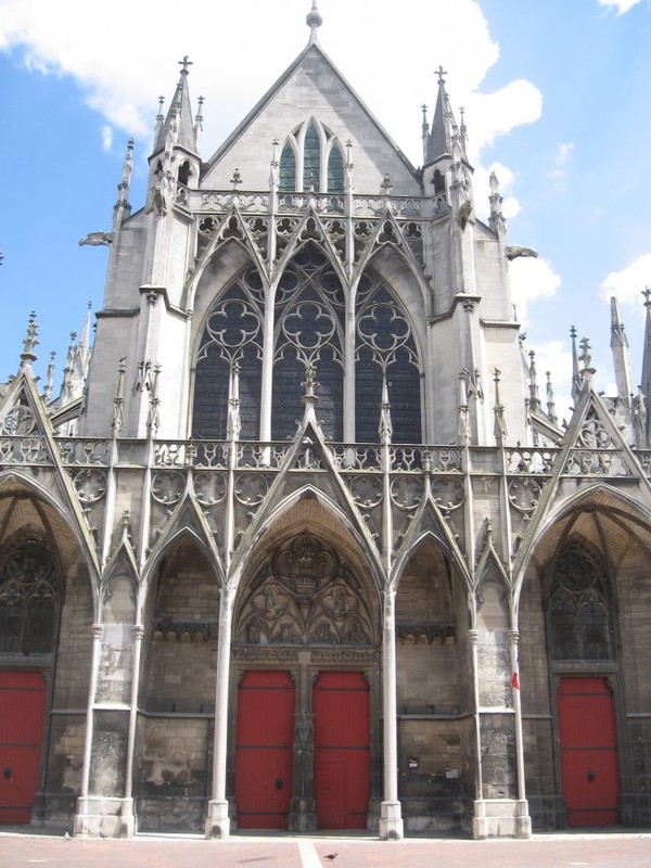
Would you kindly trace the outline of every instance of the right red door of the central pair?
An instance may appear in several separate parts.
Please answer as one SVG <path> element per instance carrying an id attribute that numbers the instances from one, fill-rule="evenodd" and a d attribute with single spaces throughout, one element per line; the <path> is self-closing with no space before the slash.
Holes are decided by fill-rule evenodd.
<path id="1" fill-rule="evenodd" d="M 319 829 L 366 829 L 369 686 L 360 672 L 322 672 L 312 693 Z"/>

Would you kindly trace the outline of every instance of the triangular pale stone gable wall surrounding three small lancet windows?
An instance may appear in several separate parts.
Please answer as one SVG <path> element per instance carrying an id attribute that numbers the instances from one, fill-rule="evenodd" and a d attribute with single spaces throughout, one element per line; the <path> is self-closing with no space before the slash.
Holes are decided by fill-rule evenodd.
<path id="1" fill-rule="evenodd" d="M 310 118 L 334 137 L 345 154 L 353 142 L 356 191 L 380 194 L 386 175 L 394 195 L 419 195 L 416 170 L 317 46 L 309 46 L 233 131 L 208 164 L 203 189 L 227 190 L 235 169 L 242 189 L 267 190 L 273 140 Z"/>

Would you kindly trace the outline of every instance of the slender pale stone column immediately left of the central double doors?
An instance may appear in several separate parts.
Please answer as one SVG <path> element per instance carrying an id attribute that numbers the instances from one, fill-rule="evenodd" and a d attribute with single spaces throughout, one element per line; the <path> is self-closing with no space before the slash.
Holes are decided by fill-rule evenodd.
<path id="1" fill-rule="evenodd" d="M 219 637 L 217 640 L 217 688 L 215 694 L 213 796 L 208 802 L 206 838 L 228 838 L 230 833 L 228 799 L 226 797 L 226 770 L 228 750 L 228 687 L 230 675 L 233 591 L 230 588 L 221 588 L 220 596 Z"/>

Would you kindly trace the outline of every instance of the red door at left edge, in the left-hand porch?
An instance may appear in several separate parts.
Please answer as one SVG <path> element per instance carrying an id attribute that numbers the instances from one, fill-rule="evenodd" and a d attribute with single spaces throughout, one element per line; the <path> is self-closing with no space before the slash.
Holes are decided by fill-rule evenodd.
<path id="1" fill-rule="evenodd" d="M 31 819 L 44 711 L 40 672 L 0 672 L 0 824 Z"/>

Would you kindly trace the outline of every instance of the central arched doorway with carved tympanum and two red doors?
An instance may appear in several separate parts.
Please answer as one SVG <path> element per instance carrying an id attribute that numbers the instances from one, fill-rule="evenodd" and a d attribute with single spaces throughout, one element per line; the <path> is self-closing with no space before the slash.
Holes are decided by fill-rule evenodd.
<path id="1" fill-rule="evenodd" d="M 240 828 L 372 825 L 379 649 L 367 584 L 333 546 L 302 533 L 243 589 L 232 679 Z"/>

